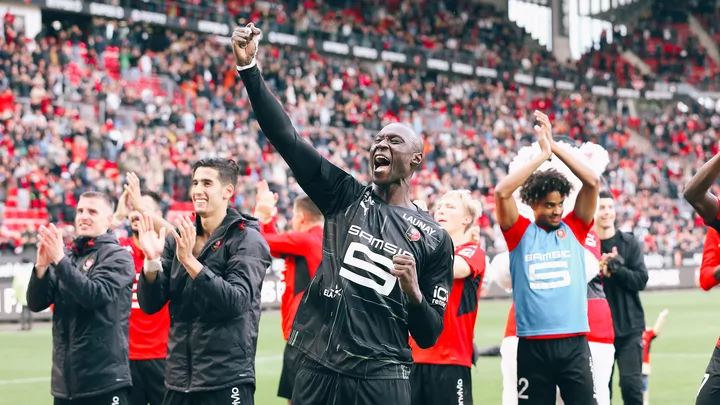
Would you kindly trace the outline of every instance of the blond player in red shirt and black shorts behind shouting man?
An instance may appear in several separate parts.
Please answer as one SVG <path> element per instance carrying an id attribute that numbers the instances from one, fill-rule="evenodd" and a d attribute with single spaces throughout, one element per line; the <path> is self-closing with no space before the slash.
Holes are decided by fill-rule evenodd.
<path id="1" fill-rule="evenodd" d="M 473 337 L 485 252 L 469 232 L 482 213 L 467 190 L 453 190 L 439 201 L 435 220 L 455 245 L 450 298 L 443 333 L 435 346 L 421 349 L 410 340 L 415 364 L 410 373 L 412 405 L 472 404 Z"/>

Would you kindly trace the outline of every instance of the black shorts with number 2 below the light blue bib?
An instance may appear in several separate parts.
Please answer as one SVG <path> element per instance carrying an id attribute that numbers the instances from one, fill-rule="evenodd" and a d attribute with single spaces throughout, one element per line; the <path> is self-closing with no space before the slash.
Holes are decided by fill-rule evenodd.
<path id="1" fill-rule="evenodd" d="M 518 340 L 518 405 L 597 405 L 587 337 Z"/>

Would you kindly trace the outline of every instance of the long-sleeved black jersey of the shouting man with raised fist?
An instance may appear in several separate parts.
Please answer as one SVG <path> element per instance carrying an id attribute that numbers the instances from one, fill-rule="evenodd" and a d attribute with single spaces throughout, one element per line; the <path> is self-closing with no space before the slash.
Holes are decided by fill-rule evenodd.
<path id="1" fill-rule="evenodd" d="M 293 128 L 260 71 L 240 72 L 260 128 L 325 216 L 323 260 L 301 303 L 289 343 L 335 372 L 407 379 L 408 333 L 430 347 L 443 329 L 453 282 L 448 233 L 419 209 L 389 205 L 323 158 Z M 420 305 L 408 303 L 392 257 L 415 258 Z"/>

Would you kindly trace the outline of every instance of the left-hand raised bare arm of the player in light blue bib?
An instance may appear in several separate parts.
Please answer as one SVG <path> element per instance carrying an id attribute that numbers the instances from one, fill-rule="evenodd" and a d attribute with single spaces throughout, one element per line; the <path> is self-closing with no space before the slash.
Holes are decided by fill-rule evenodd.
<path id="1" fill-rule="evenodd" d="M 517 222 L 520 214 L 518 213 L 517 204 L 513 198 L 513 193 L 530 177 L 540 165 L 548 160 L 552 154 L 550 149 L 550 140 L 548 128 L 540 128 L 535 126 L 535 132 L 538 135 L 538 144 L 540 146 L 540 155 L 525 163 L 518 170 L 509 173 L 504 179 L 500 180 L 495 187 L 495 215 L 500 223 L 500 228 L 507 232 Z"/>

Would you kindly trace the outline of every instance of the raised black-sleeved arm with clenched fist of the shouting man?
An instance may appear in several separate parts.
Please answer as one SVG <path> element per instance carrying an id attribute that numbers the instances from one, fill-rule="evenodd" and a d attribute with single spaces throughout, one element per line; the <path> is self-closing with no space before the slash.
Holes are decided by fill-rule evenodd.
<path id="1" fill-rule="evenodd" d="M 256 65 L 259 35 L 260 30 L 250 23 L 247 27 L 236 29 L 232 37 L 235 63 L 255 118 L 315 205 L 326 215 L 342 210 L 357 200 L 364 188 L 350 174 L 322 157 L 297 133 Z"/>

